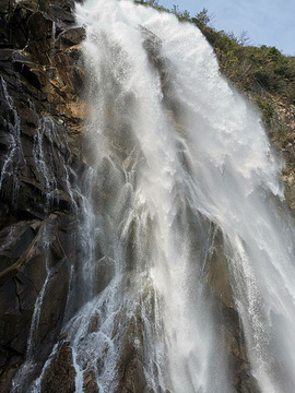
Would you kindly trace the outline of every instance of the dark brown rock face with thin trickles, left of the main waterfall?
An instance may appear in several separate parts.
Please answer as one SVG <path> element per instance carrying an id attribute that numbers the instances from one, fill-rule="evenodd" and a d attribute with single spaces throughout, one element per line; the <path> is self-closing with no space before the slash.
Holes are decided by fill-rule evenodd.
<path id="1" fill-rule="evenodd" d="M 85 32 L 73 26 L 73 8 L 0 1 L 1 392 L 33 352 L 39 359 L 27 383 L 51 352 L 79 259 Z M 71 357 L 66 345 L 58 356 L 61 366 Z"/>

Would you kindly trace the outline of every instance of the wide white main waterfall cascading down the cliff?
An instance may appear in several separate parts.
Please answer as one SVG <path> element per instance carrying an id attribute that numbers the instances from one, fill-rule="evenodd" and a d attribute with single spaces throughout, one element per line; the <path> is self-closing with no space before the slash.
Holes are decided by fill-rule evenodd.
<path id="1" fill-rule="evenodd" d="M 258 114 L 191 24 L 127 0 L 76 10 L 92 169 L 64 324 L 75 391 L 293 392 L 294 223 Z"/>

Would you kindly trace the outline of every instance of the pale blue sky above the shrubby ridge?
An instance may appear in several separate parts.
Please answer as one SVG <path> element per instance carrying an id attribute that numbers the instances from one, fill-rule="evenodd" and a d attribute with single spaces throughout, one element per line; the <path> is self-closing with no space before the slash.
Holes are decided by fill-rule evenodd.
<path id="1" fill-rule="evenodd" d="M 275 46 L 295 56 L 295 0 L 158 0 L 158 4 L 167 9 L 179 5 L 191 16 L 205 8 L 214 28 L 233 32 L 236 37 L 245 31 L 249 44 Z"/>

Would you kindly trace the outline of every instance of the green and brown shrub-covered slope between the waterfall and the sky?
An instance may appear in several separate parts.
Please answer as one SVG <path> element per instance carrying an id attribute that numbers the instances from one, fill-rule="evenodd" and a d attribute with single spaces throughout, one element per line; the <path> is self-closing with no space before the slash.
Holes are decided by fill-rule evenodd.
<path id="1" fill-rule="evenodd" d="M 206 9 L 191 16 L 177 5 L 165 9 L 156 0 L 137 2 L 174 13 L 179 21 L 200 28 L 213 47 L 221 72 L 260 109 L 272 144 L 283 152 L 282 178 L 286 199 L 295 211 L 295 57 L 285 56 L 275 47 L 250 45 L 247 33 L 238 38 L 233 33 L 216 31 Z"/>

